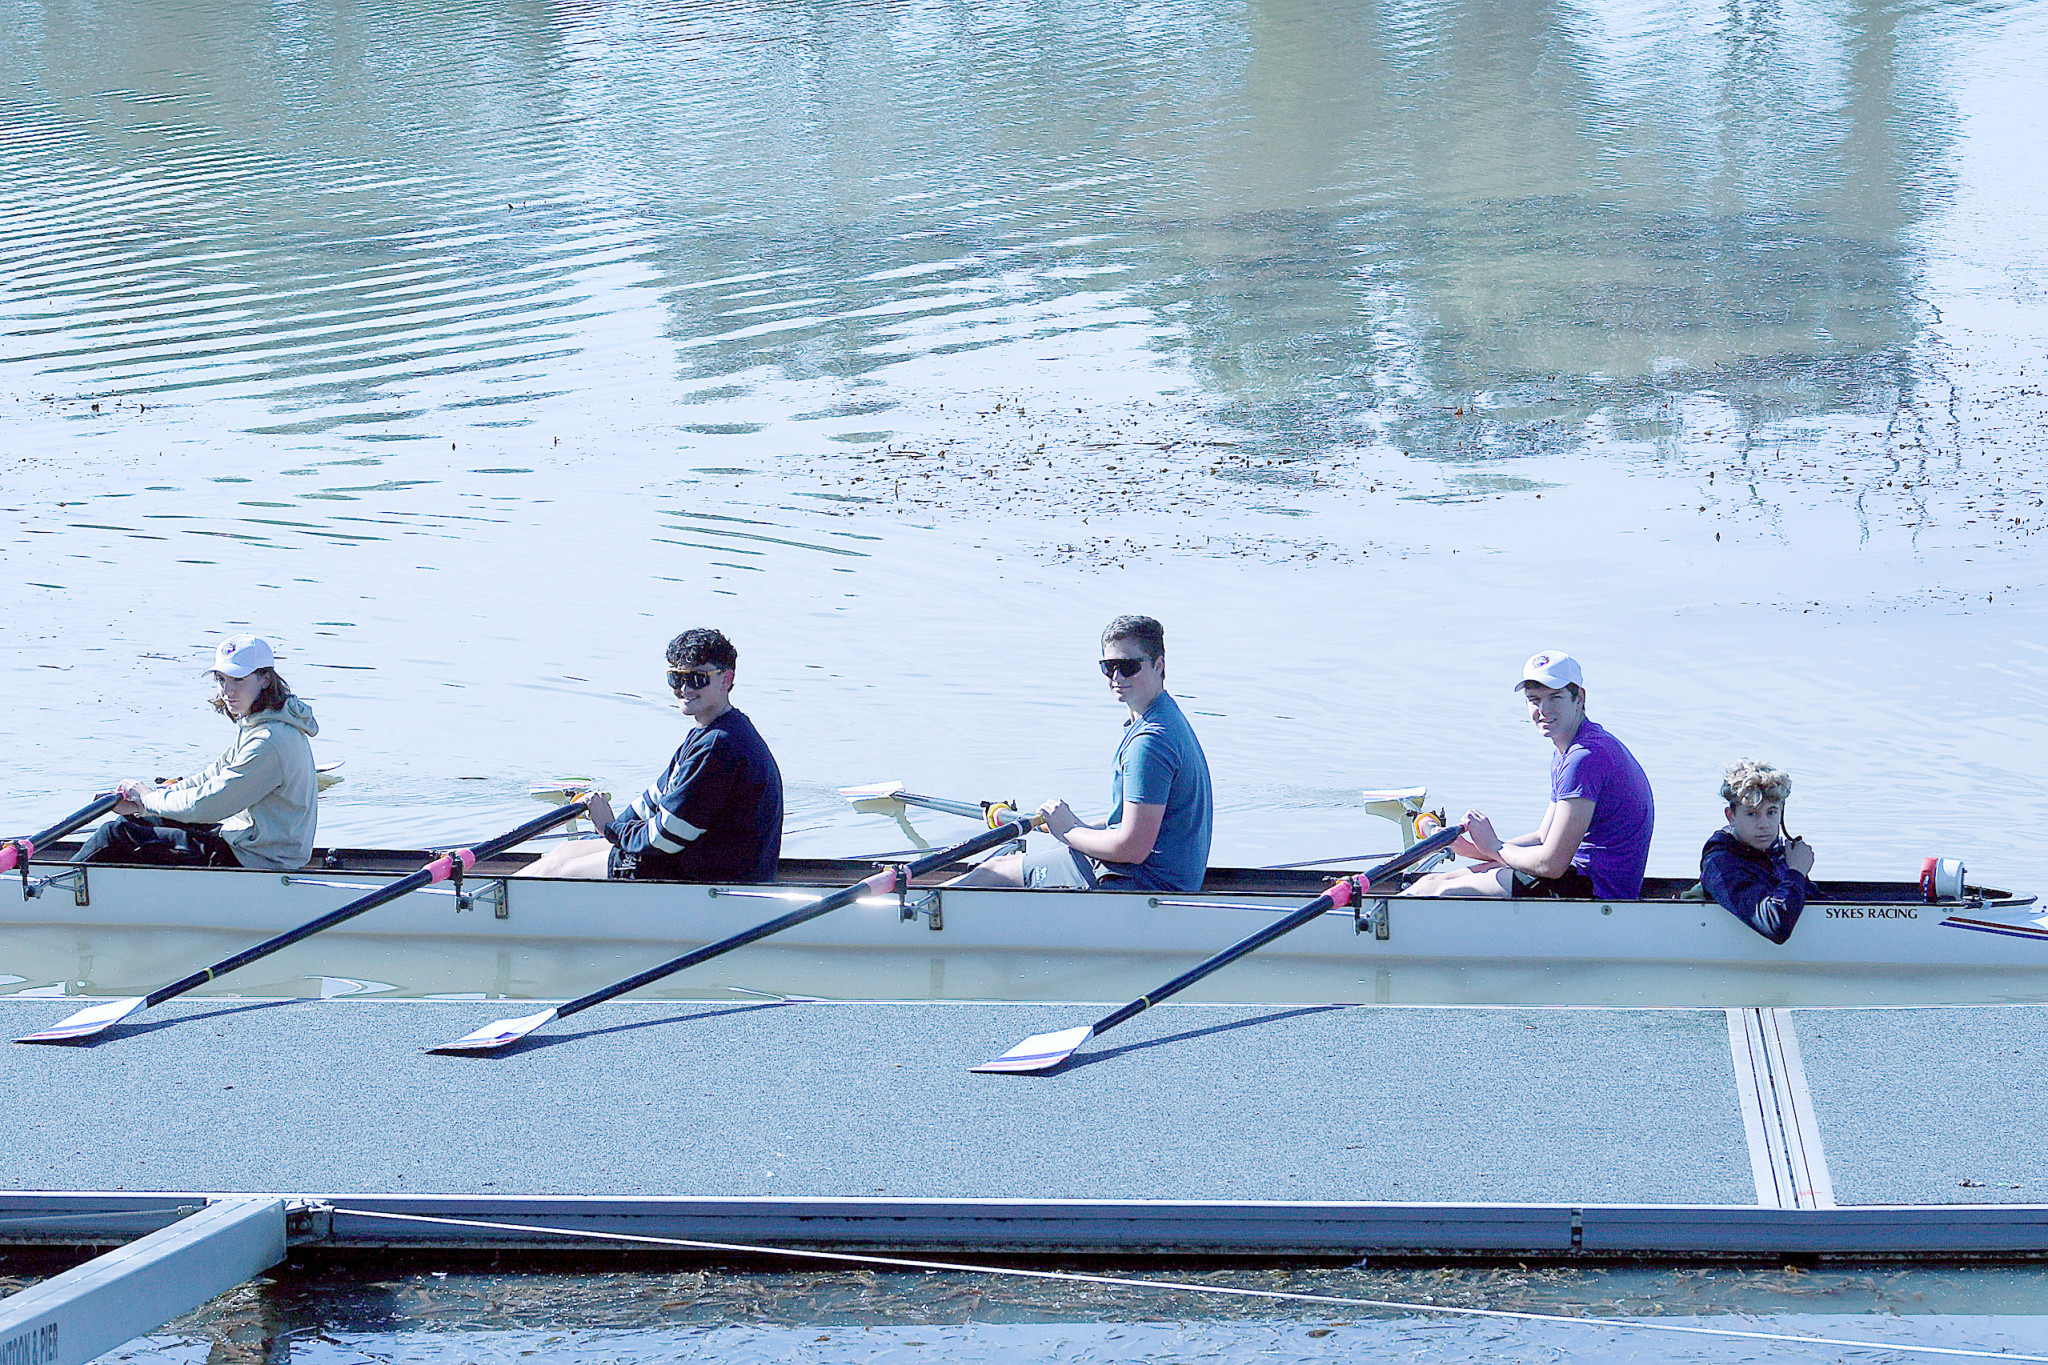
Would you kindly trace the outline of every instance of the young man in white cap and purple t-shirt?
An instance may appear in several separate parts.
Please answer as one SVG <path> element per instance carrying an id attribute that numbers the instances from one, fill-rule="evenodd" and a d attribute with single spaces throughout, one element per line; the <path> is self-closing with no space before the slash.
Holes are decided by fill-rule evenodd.
<path id="1" fill-rule="evenodd" d="M 1409 896 L 1632 900 L 1642 894 L 1657 806 L 1636 755 L 1585 718 L 1585 675 L 1559 649 L 1532 655 L 1516 684 L 1550 757 L 1550 808 L 1534 833 L 1501 839 L 1479 810 L 1464 812 L 1456 849 L 1481 860 L 1434 872 Z"/>

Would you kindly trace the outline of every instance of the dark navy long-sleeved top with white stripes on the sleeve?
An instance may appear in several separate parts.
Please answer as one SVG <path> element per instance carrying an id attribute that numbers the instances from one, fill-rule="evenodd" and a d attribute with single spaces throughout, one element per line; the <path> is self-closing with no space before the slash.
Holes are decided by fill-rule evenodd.
<path id="1" fill-rule="evenodd" d="M 782 769 L 741 710 L 690 731 L 668 769 L 604 837 L 637 876 L 772 882 L 782 857 Z"/>

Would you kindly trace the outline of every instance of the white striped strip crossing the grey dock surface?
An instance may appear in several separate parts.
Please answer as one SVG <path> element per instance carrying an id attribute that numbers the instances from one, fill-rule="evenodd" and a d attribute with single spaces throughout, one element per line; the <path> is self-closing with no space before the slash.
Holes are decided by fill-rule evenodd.
<path id="1" fill-rule="evenodd" d="M 1731 1009 L 1729 1052 L 1735 1058 L 1735 1093 L 1743 1107 L 1757 1203 L 1767 1209 L 1835 1207 L 1835 1185 L 1827 1175 L 1821 1126 L 1806 1093 L 1806 1066 L 1798 1056 L 1792 1011 Z"/>

